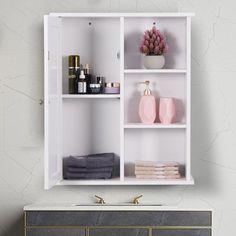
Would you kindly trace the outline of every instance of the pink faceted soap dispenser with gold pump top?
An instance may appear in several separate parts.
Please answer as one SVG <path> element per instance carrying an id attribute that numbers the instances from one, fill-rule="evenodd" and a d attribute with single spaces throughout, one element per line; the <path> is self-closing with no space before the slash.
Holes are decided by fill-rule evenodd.
<path id="1" fill-rule="evenodd" d="M 156 119 L 156 100 L 149 89 L 149 81 L 142 82 L 146 88 L 139 102 L 139 117 L 142 123 L 152 124 Z"/>

